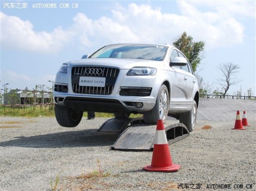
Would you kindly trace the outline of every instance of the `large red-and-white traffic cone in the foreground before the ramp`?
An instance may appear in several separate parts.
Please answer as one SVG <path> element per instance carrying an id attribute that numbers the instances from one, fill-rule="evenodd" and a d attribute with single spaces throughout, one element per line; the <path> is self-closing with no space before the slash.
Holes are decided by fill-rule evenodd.
<path id="1" fill-rule="evenodd" d="M 147 171 L 174 172 L 180 165 L 173 164 L 163 121 L 158 119 L 151 165 L 143 167 Z"/>

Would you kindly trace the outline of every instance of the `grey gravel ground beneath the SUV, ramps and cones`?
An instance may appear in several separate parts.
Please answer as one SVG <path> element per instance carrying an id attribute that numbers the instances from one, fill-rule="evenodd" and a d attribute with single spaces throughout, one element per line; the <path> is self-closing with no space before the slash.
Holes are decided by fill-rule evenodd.
<path id="1" fill-rule="evenodd" d="M 142 170 L 152 152 L 110 150 L 118 134 L 97 132 L 105 120 L 64 128 L 54 117 L 1 117 L 1 190 L 51 190 L 57 177 L 56 190 L 256 190 L 255 120 L 247 130 L 232 130 L 235 121 L 197 121 L 170 145 L 181 165 L 171 173 Z"/>

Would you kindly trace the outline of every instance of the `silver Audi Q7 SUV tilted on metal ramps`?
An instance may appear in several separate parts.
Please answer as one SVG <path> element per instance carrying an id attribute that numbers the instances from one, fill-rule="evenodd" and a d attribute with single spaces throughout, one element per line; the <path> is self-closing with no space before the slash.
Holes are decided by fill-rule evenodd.
<path id="1" fill-rule="evenodd" d="M 199 87 L 184 54 L 171 45 L 111 44 L 64 63 L 54 84 L 59 125 L 77 126 L 84 111 L 142 114 L 146 124 L 172 116 L 192 131 Z"/>

